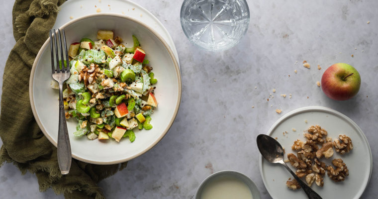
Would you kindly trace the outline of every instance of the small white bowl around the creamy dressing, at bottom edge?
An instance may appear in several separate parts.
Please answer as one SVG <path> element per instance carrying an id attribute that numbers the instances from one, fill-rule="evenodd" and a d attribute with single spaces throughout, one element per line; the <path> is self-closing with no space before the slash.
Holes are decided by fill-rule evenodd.
<path id="1" fill-rule="evenodd" d="M 194 199 L 201 199 L 203 189 L 206 187 L 206 185 L 208 185 L 208 183 L 211 183 L 213 180 L 219 177 L 234 177 L 240 180 L 241 182 L 245 183 L 248 186 L 248 188 L 251 190 L 253 199 L 260 199 L 259 189 L 257 189 L 256 184 L 251 180 L 251 178 L 249 178 L 248 176 L 240 172 L 232 171 L 232 170 L 219 171 L 208 176 L 199 185 L 197 192 L 195 193 Z"/>

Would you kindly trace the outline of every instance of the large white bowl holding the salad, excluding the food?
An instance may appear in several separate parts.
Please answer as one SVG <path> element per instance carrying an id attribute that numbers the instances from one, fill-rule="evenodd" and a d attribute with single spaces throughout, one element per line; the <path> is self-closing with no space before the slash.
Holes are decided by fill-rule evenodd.
<path id="1" fill-rule="evenodd" d="M 181 74 L 178 62 L 170 47 L 152 28 L 142 22 L 121 14 L 97 13 L 74 19 L 60 29 L 66 32 L 67 44 L 83 37 L 96 38 L 97 30 L 110 29 L 127 43 L 132 43 L 135 34 L 146 51 L 146 58 L 153 67 L 156 84 L 155 97 L 158 107 L 151 115 L 151 130 L 134 130 L 136 139 L 130 143 L 122 139 L 106 141 L 89 140 L 87 136 L 75 137 L 76 119 L 67 120 L 72 156 L 93 164 L 115 164 L 128 161 L 155 146 L 174 122 L 181 101 Z M 39 50 L 34 61 L 29 81 L 29 96 L 34 117 L 45 136 L 57 146 L 59 92 L 51 89 L 50 39 Z M 155 86 L 155 85 L 154 85 Z"/>

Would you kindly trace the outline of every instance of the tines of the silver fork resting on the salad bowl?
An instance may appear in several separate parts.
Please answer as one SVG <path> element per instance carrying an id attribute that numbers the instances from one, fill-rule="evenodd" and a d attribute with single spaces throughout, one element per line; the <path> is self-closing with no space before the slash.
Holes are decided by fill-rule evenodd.
<path id="1" fill-rule="evenodd" d="M 53 31 L 54 31 L 54 36 L 53 36 L 53 33 L 52 33 Z M 64 59 L 64 56 L 63 56 L 64 53 L 63 53 L 62 39 L 61 39 L 61 36 L 60 36 L 60 29 L 58 29 L 58 37 L 57 37 L 56 30 L 50 29 L 51 70 L 52 70 L 53 74 L 54 73 L 60 73 L 61 71 L 67 72 L 67 71 L 70 70 L 70 61 L 69 61 L 69 58 L 68 58 L 66 35 L 64 33 L 64 29 L 62 29 L 62 31 L 63 31 L 63 41 L 64 41 L 64 49 L 65 49 L 65 54 L 66 54 L 66 60 Z M 62 69 L 59 68 L 59 52 L 58 52 L 57 38 L 59 39 Z M 54 40 L 54 42 L 53 42 L 53 40 Z M 54 43 L 55 43 L 56 66 L 54 64 Z M 66 65 L 64 64 L 64 61 L 66 61 Z"/>

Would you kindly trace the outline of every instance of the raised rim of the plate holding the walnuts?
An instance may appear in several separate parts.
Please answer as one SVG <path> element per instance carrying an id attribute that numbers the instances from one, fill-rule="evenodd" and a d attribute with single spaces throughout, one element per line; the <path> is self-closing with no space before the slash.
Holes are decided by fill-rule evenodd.
<path id="1" fill-rule="evenodd" d="M 346 119 L 349 123 L 351 123 L 356 129 L 357 131 L 362 135 L 363 139 L 365 140 L 365 142 L 367 143 L 367 147 L 369 149 L 369 155 L 370 155 L 370 172 L 369 172 L 369 179 L 367 181 L 367 183 L 365 184 L 364 188 L 363 188 L 363 191 L 361 192 L 360 195 L 356 195 L 356 199 L 359 199 L 365 192 L 367 186 L 369 185 L 369 182 L 370 182 L 370 179 L 372 177 L 372 171 L 373 171 L 373 155 L 372 155 L 372 149 L 370 148 L 370 144 L 368 142 L 368 139 L 365 135 L 365 133 L 362 131 L 362 129 L 356 124 L 356 122 L 354 122 L 351 118 L 349 118 L 348 116 L 346 116 L 345 114 L 337 111 L 337 110 L 334 110 L 332 108 L 328 108 L 328 107 L 324 107 L 324 106 L 305 106 L 305 107 L 301 107 L 301 108 L 297 108 L 297 109 L 294 109 L 294 110 L 291 110 L 290 112 L 284 114 L 281 118 L 279 118 L 275 123 L 273 123 L 273 125 L 270 127 L 270 129 L 268 130 L 268 132 L 266 133 L 266 135 L 270 135 L 272 133 L 272 131 L 279 125 L 281 124 L 284 120 L 286 120 L 287 118 L 293 116 L 293 115 L 296 115 L 296 114 L 299 114 L 299 113 L 303 113 L 303 112 L 308 112 L 308 111 L 322 111 L 322 112 L 328 112 L 328 113 L 331 113 L 331 114 L 335 114 L 343 119 Z M 265 189 L 267 190 L 267 192 L 269 193 L 269 195 L 272 197 L 272 195 L 270 194 L 270 192 L 272 190 L 268 190 L 267 188 L 267 182 L 266 182 L 266 179 L 263 178 L 263 156 L 261 154 L 259 154 L 259 170 L 260 170 L 260 176 L 261 176 L 261 179 L 263 180 L 263 183 L 264 183 L 264 187 Z M 272 197 L 273 198 L 273 197 Z"/>

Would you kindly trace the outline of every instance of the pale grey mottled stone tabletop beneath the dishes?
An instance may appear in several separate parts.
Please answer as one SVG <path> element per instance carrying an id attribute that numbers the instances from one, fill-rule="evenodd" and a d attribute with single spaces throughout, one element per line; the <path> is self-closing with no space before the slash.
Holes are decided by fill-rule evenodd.
<path id="1" fill-rule="evenodd" d="M 13 2 L 0 3 L 1 76 L 15 43 Z M 163 22 L 175 41 L 183 79 L 182 103 L 171 130 L 156 147 L 99 183 L 107 198 L 191 199 L 212 172 L 236 170 L 250 176 L 262 198 L 269 199 L 259 173 L 256 136 L 288 111 L 308 105 L 336 109 L 365 132 L 374 168 L 362 198 L 378 195 L 378 1 L 248 0 L 251 22 L 246 36 L 236 47 L 217 53 L 189 43 L 179 20 L 182 1 L 138 3 Z M 301 66 L 303 60 L 311 69 Z M 361 90 L 352 100 L 330 100 L 315 84 L 328 66 L 338 62 L 355 66 L 362 76 Z M 270 94 L 274 98 L 267 101 Z M 283 112 L 277 114 L 276 108 Z M 51 190 L 39 193 L 34 175 L 22 176 L 11 164 L 2 166 L 0 198 L 26 195 L 63 198 Z"/>

